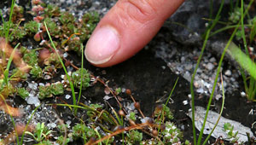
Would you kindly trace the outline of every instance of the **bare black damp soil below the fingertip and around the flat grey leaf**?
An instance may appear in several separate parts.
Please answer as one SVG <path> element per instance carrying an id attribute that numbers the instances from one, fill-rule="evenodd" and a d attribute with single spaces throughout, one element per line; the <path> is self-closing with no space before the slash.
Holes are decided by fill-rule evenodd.
<path id="1" fill-rule="evenodd" d="M 78 62 L 79 63 L 79 62 Z M 175 81 L 178 78 L 177 86 L 172 94 L 172 99 L 168 103 L 168 107 L 172 109 L 177 127 L 183 131 L 183 140 L 193 142 L 192 122 L 186 115 L 189 111 L 189 104 L 184 105 L 184 101 L 190 102 L 189 99 L 189 82 L 178 76 L 166 67 L 166 63 L 154 56 L 154 51 L 141 51 L 130 60 L 125 61 L 117 66 L 108 68 L 97 68 L 86 63 L 88 68 L 94 75 L 100 76 L 108 80 L 108 86 L 112 88 L 125 88 L 132 91 L 132 95 L 141 103 L 143 113 L 151 116 L 154 107 L 165 103 L 169 96 Z M 104 102 L 103 96 L 104 86 L 96 84 L 84 91 L 84 96 L 91 102 Z M 120 96 L 123 102 L 131 102 L 129 96 Z M 198 96 L 195 94 L 195 105 L 207 107 L 208 97 Z M 113 107 L 118 108 L 114 99 L 108 100 Z M 212 111 L 219 112 L 222 100 L 212 101 Z M 225 104 L 223 115 L 227 119 L 233 119 L 242 125 L 251 127 L 255 121 L 255 102 L 248 102 L 246 97 L 241 97 L 240 91 L 225 95 Z M 251 113 L 250 113 L 251 112 Z M 252 131 L 255 135 L 256 127 L 253 126 Z M 197 131 L 197 134 L 198 131 Z M 206 137 L 206 136 L 205 136 Z M 211 137 L 210 142 L 215 142 L 215 138 Z"/>

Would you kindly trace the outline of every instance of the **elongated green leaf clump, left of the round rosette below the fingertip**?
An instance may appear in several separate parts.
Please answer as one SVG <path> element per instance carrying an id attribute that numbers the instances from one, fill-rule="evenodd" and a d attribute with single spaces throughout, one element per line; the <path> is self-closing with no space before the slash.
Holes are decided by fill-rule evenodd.
<path id="1" fill-rule="evenodd" d="M 64 87 L 61 83 L 39 86 L 38 98 L 44 99 L 47 97 L 58 96 L 64 93 Z"/>

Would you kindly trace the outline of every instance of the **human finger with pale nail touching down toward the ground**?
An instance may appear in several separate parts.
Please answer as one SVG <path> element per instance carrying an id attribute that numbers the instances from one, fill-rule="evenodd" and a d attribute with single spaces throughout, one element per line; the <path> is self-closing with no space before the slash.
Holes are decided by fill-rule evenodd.
<path id="1" fill-rule="evenodd" d="M 125 61 L 148 44 L 183 0 L 119 0 L 92 33 L 84 55 L 97 67 Z"/>

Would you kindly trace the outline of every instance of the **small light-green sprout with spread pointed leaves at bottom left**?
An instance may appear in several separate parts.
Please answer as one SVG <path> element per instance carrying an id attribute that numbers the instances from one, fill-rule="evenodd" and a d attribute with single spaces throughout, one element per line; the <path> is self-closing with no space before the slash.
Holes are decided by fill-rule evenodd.
<path id="1" fill-rule="evenodd" d="M 44 139 L 47 138 L 47 136 L 49 136 L 51 132 L 52 131 L 49 131 L 43 122 L 42 124 L 41 123 L 37 124 L 34 133 L 29 131 L 26 131 L 25 133 L 32 136 L 37 142 L 43 143 Z"/>

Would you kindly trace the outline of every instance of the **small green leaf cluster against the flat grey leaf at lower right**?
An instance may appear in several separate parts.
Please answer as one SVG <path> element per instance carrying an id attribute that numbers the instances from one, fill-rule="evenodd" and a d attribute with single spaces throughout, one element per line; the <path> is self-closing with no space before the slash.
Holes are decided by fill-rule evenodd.
<path id="1" fill-rule="evenodd" d="M 229 139 L 232 143 L 238 141 L 239 137 L 237 136 L 238 131 L 234 131 L 234 126 L 230 125 L 230 123 L 224 124 L 224 131 L 227 133 L 227 139 Z"/>

